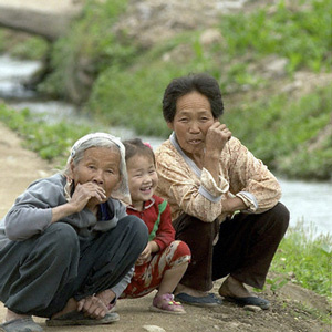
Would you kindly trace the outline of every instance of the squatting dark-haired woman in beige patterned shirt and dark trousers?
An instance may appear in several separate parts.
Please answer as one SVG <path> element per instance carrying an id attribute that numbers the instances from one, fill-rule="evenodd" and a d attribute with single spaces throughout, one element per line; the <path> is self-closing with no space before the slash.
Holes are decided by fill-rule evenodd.
<path id="1" fill-rule="evenodd" d="M 156 151 L 157 195 L 168 200 L 177 239 L 193 253 L 175 299 L 218 305 L 208 291 L 227 277 L 221 297 L 268 309 L 245 284 L 263 287 L 289 212 L 278 203 L 276 177 L 219 122 L 222 111 L 218 82 L 207 74 L 175 79 L 164 94 L 173 134 Z"/>

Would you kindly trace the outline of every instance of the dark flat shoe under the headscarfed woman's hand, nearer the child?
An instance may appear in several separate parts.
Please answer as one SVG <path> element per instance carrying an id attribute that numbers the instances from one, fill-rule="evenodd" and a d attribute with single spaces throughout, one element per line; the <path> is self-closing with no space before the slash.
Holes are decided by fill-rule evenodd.
<path id="1" fill-rule="evenodd" d="M 55 319 L 46 320 L 48 326 L 68 326 L 68 325 L 102 325 L 111 324 L 120 320 L 116 312 L 107 312 L 104 318 L 97 320 L 85 317 L 81 311 L 71 311 Z"/>

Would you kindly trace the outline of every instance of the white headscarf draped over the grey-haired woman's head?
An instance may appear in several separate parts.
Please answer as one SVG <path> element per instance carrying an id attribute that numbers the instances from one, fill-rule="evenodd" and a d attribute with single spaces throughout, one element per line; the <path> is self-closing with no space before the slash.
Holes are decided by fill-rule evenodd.
<path id="1" fill-rule="evenodd" d="M 91 141 L 91 139 L 97 139 L 97 143 L 92 144 L 92 145 L 86 145 L 86 143 L 89 143 L 89 141 Z M 128 188 L 128 176 L 127 176 L 126 162 L 125 162 L 125 147 L 118 137 L 112 136 L 106 133 L 92 133 L 92 134 L 87 134 L 87 135 L 81 137 L 79 141 L 76 141 L 76 143 L 71 148 L 71 154 L 66 160 L 66 167 L 70 165 L 71 160 L 74 159 L 74 157 L 76 156 L 76 154 L 80 151 L 80 148 L 82 147 L 82 145 L 86 145 L 85 148 L 83 146 L 84 151 L 90 147 L 104 146 L 103 142 L 105 142 L 105 139 L 110 141 L 120 151 L 121 185 L 118 186 L 118 188 L 116 190 L 114 190 L 111 194 L 111 197 L 120 199 L 126 204 L 131 204 L 132 199 L 131 199 L 131 193 L 129 193 L 129 188 Z"/>

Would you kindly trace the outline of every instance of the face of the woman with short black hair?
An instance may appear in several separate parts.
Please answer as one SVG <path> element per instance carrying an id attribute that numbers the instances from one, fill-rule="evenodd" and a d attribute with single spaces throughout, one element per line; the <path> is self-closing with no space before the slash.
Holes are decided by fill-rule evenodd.
<path id="1" fill-rule="evenodd" d="M 215 118 L 209 100 L 197 91 L 180 96 L 168 127 L 175 132 L 178 144 L 188 155 L 204 153 L 205 137 Z"/>

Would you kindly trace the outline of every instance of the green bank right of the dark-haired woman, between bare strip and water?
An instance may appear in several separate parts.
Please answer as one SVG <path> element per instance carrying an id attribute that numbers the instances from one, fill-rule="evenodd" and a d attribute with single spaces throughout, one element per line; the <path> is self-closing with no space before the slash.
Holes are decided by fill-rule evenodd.
<path id="1" fill-rule="evenodd" d="M 298 100 L 280 94 L 243 104 L 225 114 L 225 122 L 270 168 L 290 177 L 326 179 L 332 175 L 332 84 Z"/>

